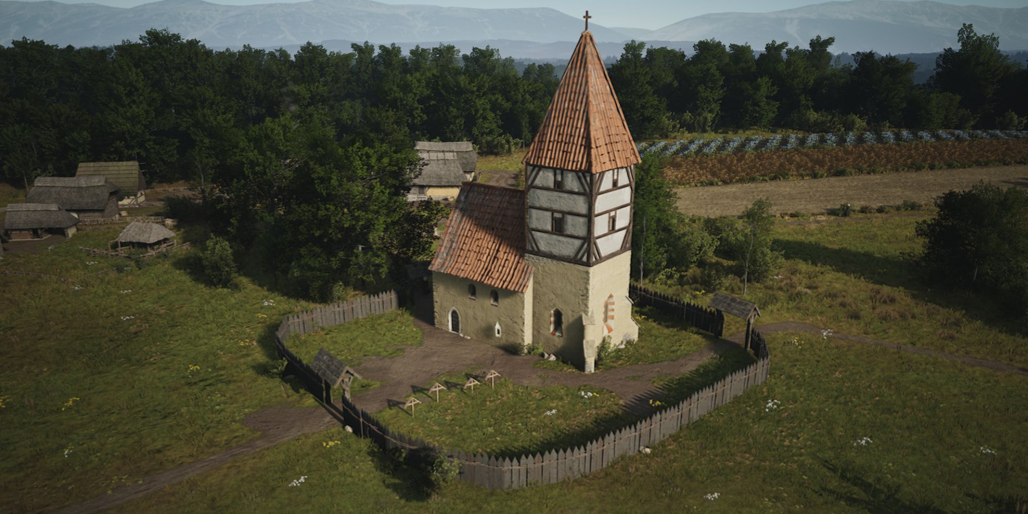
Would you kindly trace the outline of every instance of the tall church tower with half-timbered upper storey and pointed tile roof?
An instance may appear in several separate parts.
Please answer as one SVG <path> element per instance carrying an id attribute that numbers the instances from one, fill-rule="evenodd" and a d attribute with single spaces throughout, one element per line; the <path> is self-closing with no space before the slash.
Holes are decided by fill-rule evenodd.
<path id="1" fill-rule="evenodd" d="M 639 154 L 588 30 L 522 162 L 534 340 L 591 371 L 597 345 L 638 337 L 628 278 Z"/>

